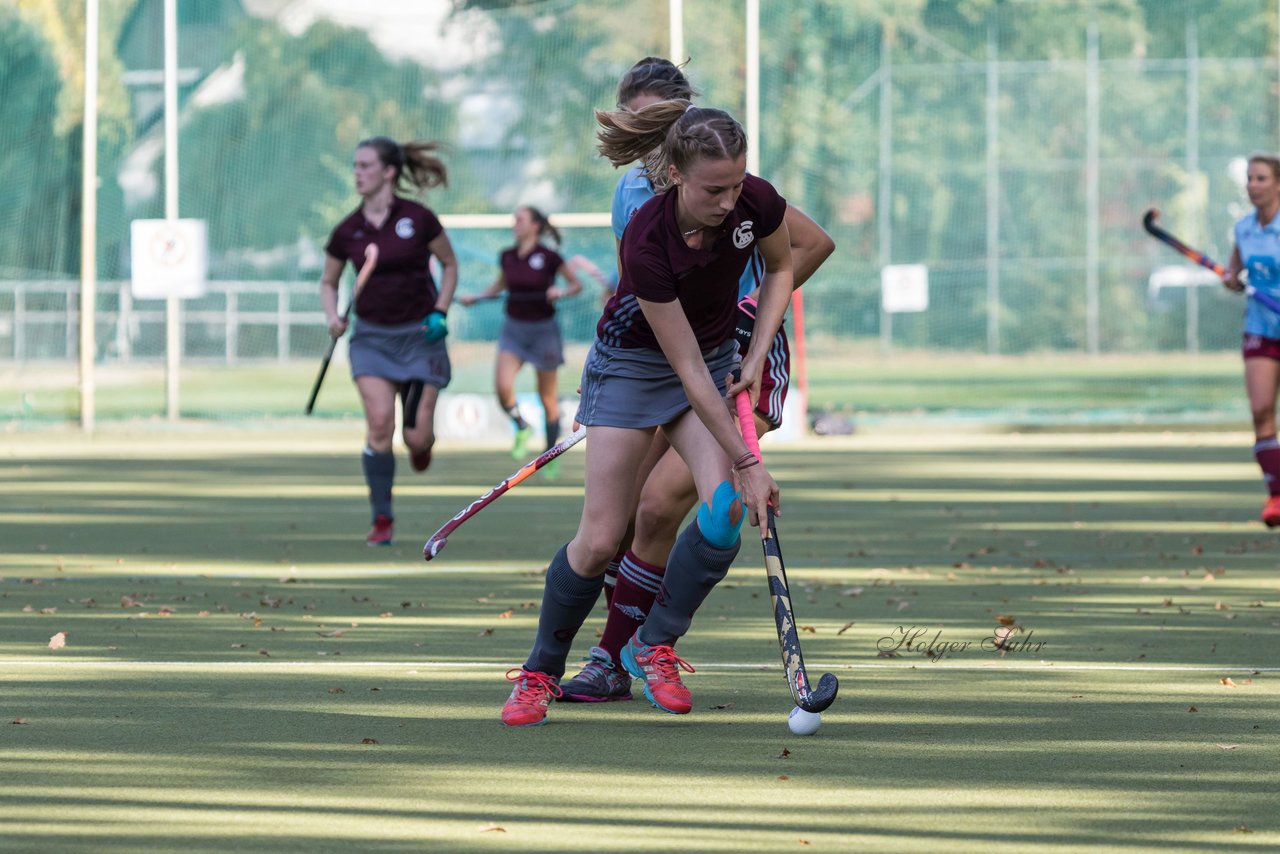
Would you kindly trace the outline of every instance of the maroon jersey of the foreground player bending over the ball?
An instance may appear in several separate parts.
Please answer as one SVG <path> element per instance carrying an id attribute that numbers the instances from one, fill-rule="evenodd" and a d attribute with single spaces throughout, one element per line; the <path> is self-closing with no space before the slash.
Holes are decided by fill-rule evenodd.
<path id="1" fill-rule="evenodd" d="M 769 182 L 746 175 L 737 205 L 710 248 L 690 248 L 676 222 L 676 193 L 654 196 L 622 233 L 618 289 L 604 306 L 595 335 L 611 347 L 658 348 L 637 298 L 680 301 L 698 348 L 714 350 L 733 337 L 737 280 L 756 241 L 782 224 L 787 202 Z"/>

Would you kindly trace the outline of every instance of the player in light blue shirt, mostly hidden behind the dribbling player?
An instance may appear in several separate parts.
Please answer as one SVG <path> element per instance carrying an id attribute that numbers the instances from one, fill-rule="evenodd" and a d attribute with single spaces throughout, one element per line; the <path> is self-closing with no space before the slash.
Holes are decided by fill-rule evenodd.
<path id="1" fill-rule="evenodd" d="M 618 106 L 637 110 L 666 99 L 691 99 L 696 92 L 684 72 L 667 59 L 646 56 L 631 67 L 618 83 Z M 613 193 L 613 234 L 620 245 L 627 223 L 644 202 L 668 186 L 663 174 L 660 151 L 632 166 L 618 179 Z M 657 172 L 658 184 L 650 181 Z M 827 233 L 794 205 L 786 209 L 787 233 L 791 243 L 794 284 L 800 287 L 831 255 L 836 245 Z M 737 333 L 745 356 L 751 341 L 755 300 L 760 283 L 760 257 L 754 254 L 739 282 Z M 791 357 L 787 335 L 778 329 L 765 357 L 760 380 L 760 398 L 755 407 L 755 424 L 760 435 L 782 425 L 791 379 Z M 698 501 L 689 466 L 669 448 L 659 431 L 652 456 L 641 467 L 643 487 L 632 525 L 634 538 L 623 542 L 605 572 L 604 595 L 609 616 L 599 645 L 591 648 L 582 671 L 561 684 L 559 699 L 581 703 L 631 699 L 631 676 L 622 668 L 622 645 L 644 622 L 653 607 L 662 579 L 667 572 L 668 554 L 680 525 Z"/>

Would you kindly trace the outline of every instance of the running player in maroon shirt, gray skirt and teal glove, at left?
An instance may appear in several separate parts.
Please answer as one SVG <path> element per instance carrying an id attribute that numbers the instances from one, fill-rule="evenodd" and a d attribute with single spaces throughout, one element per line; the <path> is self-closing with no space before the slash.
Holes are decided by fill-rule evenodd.
<path id="1" fill-rule="evenodd" d="M 378 261 L 365 287 L 352 296 L 356 325 L 351 337 L 351 375 L 365 410 L 361 462 L 369 484 L 372 516 L 370 545 L 390 545 L 396 516 L 392 484 L 396 457 L 396 398 L 403 399 L 402 438 L 415 471 L 431 463 L 435 443 L 435 401 L 449 384 L 445 310 L 458 283 L 453 247 L 440 220 L 416 201 L 397 195 L 404 184 L 422 191 L 444 184 L 436 143 L 403 145 L 372 137 L 356 146 L 356 192 L 360 207 L 338 223 L 325 246 L 320 302 L 329 334 L 342 335 L 347 321 L 338 314 L 338 279 L 349 261 L 358 268 L 370 245 Z M 440 266 L 440 284 L 431 275 L 431 257 Z"/>

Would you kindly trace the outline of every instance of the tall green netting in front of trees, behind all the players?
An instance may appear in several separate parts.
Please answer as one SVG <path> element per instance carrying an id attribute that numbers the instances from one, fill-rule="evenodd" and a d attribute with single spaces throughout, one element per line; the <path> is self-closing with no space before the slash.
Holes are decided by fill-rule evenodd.
<path id="1" fill-rule="evenodd" d="M 128 234 L 164 214 L 163 3 L 101 10 L 97 403 L 108 417 L 151 416 L 165 312 L 129 296 Z M 704 102 L 745 117 L 744 4 L 684 10 Z M 1238 298 L 1153 291 L 1152 271 L 1178 259 L 1138 223 L 1160 206 L 1178 233 L 1230 250 L 1247 210 L 1233 164 L 1280 141 L 1272 0 L 777 0 L 760 15 L 760 172 L 838 246 L 805 288 L 815 407 L 901 411 L 863 394 L 904 364 L 1021 376 L 1056 355 L 1082 365 L 1080 387 L 1043 407 L 1015 389 L 966 408 L 919 382 L 906 411 L 1124 420 L 1151 411 L 1138 403 L 1149 376 L 1135 367 L 1097 401 L 1088 366 L 1180 353 L 1185 382 L 1161 385 L 1156 408 L 1240 416 L 1235 380 L 1222 382 L 1236 373 Z M 183 306 L 184 369 L 218 369 L 228 387 L 259 382 L 239 370 L 293 371 L 302 379 L 285 385 L 305 391 L 325 346 L 321 247 L 356 204 L 349 160 L 366 136 L 448 143 L 449 187 L 426 200 L 445 216 L 518 204 L 605 214 L 617 173 L 594 156 L 591 109 L 612 105 L 635 59 L 669 51 L 667 23 L 654 0 L 179 3 L 179 206 L 210 234 L 210 292 Z M 0 415 L 12 419 L 76 416 L 83 29 L 77 0 L 0 4 Z M 488 284 L 506 228 L 451 237 L 462 288 Z M 564 252 L 609 269 L 612 243 L 604 227 L 571 228 Z M 928 311 L 882 312 L 890 264 L 928 266 Z M 596 311 L 590 294 L 564 306 L 572 342 L 589 341 Z M 498 307 L 451 320 L 456 389 L 488 391 Z M 186 414 L 297 408 L 201 388 L 191 382 Z M 338 407 L 356 411 L 353 398 Z"/>

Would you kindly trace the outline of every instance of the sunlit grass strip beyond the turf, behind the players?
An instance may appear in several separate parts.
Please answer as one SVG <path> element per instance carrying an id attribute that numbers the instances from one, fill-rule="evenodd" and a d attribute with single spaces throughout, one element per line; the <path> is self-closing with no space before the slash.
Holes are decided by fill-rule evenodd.
<path id="1" fill-rule="evenodd" d="M 451 346 L 451 392 L 490 394 L 493 346 Z M 585 348 L 570 347 L 559 391 L 572 397 Z M 1071 353 L 986 357 L 973 353 L 893 353 L 818 342 L 809 351 L 809 410 L 836 411 L 856 424 L 946 419 L 996 425 L 1248 424 L 1238 353 Z M 182 412 L 201 419 L 292 417 L 301 412 L 319 360 L 188 364 L 179 374 Z M 97 416 L 154 419 L 165 412 L 164 369 L 101 366 Z M 517 389 L 532 392 L 531 371 Z M 70 365 L 10 366 L 0 371 L 0 419 L 12 424 L 72 421 L 79 411 Z M 343 364 L 330 369 L 317 417 L 360 417 Z"/>

